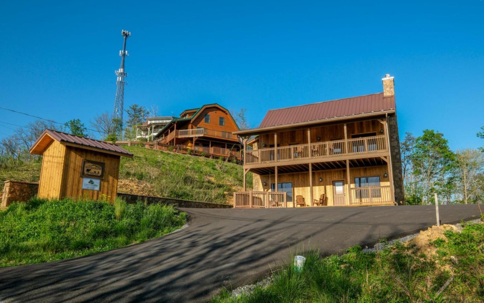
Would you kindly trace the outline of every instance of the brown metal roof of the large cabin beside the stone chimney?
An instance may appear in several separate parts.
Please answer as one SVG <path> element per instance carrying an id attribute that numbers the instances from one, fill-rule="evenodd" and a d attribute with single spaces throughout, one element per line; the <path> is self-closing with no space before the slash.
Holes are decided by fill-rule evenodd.
<path id="1" fill-rule="evenodd" d="M 266 113 L 259 128 L 394 109 L 395 96 L 383 97 L 383 93 L 378 93 L 270 110 Z"/>

